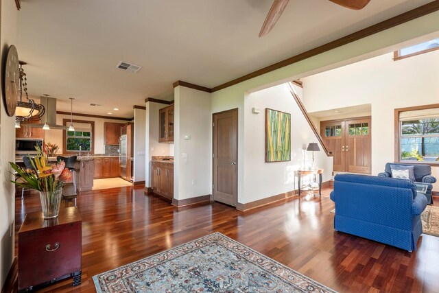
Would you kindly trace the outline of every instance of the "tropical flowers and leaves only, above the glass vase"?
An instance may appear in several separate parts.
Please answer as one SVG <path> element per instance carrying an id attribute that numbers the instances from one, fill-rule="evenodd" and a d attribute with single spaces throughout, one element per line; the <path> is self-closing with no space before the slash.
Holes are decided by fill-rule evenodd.
<path id="1" fill-rule="evenodd" d="M 62 189 L 64 183 L 71 182 L 73 176 L 69 169 L 65 169 L 66 164 L 60 161 L 49 165 L 47 162 L 47 152 L 36 147 L 37 155 L 34 159 L 29 159 L 33 169 L 26 169 L 10 162 L 12 169 L 23 180 L 15 180 L 12 183 L 25 187 L 27 189 L 35 189 L 38 191 L 56 191 Z"/>

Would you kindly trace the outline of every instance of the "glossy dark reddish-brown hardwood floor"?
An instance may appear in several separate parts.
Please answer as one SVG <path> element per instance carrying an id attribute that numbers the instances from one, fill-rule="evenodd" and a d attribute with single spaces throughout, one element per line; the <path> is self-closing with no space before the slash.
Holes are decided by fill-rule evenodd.
<path id="1" fill-rule="evenodd" d="M 66 279 L 38 292 L 95 292 L 93 275 L 215 231 L 339 292 L 439 292 L 439 237 L 423 235 L 408 253 L 335 232 L 330 191 L 246 212 L 217 202 L 176 208 L 141 187 L 83 192 L 63 203 L 82 215 L 82 285 Z M 38 210 L 38 194 L 16 198 L 16 232 Z"/>

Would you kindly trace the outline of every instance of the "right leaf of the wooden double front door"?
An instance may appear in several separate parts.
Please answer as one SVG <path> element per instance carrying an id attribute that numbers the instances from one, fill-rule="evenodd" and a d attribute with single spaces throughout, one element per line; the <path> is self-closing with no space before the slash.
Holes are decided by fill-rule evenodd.
<path id="1" fill-rule="evenodd" d="M 346 121 L 345 154 L 348 172 L 364 174 L 372 172 L 371 131 L 370 118 Z"/>

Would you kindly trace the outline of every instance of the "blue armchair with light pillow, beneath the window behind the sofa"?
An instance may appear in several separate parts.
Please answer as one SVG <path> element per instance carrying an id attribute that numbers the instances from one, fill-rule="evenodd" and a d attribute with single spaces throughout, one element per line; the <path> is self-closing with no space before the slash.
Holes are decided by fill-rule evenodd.
<path id="1" fill-rule="evenodd" d="M 433 183 L 436 183 L 436 177 L 431 176 L 431 167 L 426 164 L 410 164 L 410 163 L 387 163 L 385 164 L 385 172 L 378 174 L 379 177 L 392 177 L 391 165 L 397 166 L 413 166 L 414 167 L 414 180 L 416 182 L 425 183 L 427 185 L 427 204 L 433 204 L 433 197 L 431 196 L 433 191 Z"/>

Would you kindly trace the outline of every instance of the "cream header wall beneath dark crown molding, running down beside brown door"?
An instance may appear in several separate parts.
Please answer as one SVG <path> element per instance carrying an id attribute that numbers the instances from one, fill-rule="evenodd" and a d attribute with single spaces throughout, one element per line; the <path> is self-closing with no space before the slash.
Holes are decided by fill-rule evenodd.
<path id="1" fill-rule="evenodd" d="M 244 148 L 244 98 L 248 93 L 379 56 L 401 47 L 401 43 L 411 43 L 414 38 L 427 40 L 431 35 L 438 37 L 438 32 L 439 12 L 433 12 L 348 45 L 211 93 L 211 113 L 238 108 L 238 202 L 246 202 L 244 198 L 246 161 L 243 159 L 244 152 L 246 152 Z M 343 81 L 338 80 L 337 83 L 339 82 Z"/>

